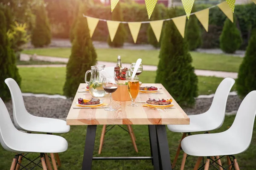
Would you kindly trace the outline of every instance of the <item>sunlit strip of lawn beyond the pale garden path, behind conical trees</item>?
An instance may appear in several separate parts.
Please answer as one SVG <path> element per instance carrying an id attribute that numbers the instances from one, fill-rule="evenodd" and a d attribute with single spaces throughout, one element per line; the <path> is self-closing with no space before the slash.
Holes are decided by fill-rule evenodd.
<path id="1" fill-rule="evenodd" d="M 22 51 L 25 54 L 43 56 L 70 57 L 70 48 L 39 48 Z M 145 65 L 157 65 L 159 50 L 126 50 L 126 49 L 96 49 L 98 61 L 116 62 L 117 56 L 123 63 L 136 62 L 141 58 Z M 190 52 L 196 69 L 238 72 L 242 58 L 221 54 L 204 54 Z"/>

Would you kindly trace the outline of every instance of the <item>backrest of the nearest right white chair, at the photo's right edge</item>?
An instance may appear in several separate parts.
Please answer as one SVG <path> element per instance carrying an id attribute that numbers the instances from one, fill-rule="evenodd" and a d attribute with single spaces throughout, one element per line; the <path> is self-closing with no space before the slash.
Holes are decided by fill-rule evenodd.
<path id="1" fill-rule="evenodd" d="M 244 150 L 250 146 L 253 135 L 253 125 L 256 115 L 256 91 L 251 91 L 244 100 L 241 102 L 239 109 L 236 113 L 236 118 L 232 126 L 227 130 L 234 136 L 240 143 L 240 148 Z"/>

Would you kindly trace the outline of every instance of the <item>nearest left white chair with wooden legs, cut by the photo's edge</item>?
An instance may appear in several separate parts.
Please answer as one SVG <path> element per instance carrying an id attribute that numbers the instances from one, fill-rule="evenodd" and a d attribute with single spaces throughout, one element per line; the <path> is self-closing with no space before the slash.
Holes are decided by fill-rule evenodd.
<path id="1" fill-rule="evenodd" d="M 41 157 L 43 170 L 47 170 L 47 167 L 48 170 L 52 170 L 47 156 L 47 153 L 50 153 L 54 170 L 56 170 L 57 165 L 53 153 L 60 153 L 67 150 L 68 144 L 66 139 L 61 136 L 23 133 L 17 130 L 12 124 L 10 115 L 1 98 L 0 117 L 0 143 L 5 150 L 17 153 L 12 161 L 10 170 L 19 169 L 20 166 L 25 167 L 21 164 L 22 158 L 27 159 L 23 153 L 32 152 L 40 153 L 39 157 Z"/>

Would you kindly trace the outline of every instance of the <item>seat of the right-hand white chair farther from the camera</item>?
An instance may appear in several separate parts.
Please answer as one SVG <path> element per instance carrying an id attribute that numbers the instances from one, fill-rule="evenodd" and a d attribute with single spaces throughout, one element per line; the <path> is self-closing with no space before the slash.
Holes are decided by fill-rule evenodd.
<path id="1" fill-rule="evenodd" d="M 209 114 L 207 112 L 198 115 L 190 115 L 189 125 L 167 125 L 167 127 L 172 132 L 181 133 L 206 132 L 214 130 L 218 125 L 215 124 L 216 121 L 213 121 L 214 117 L 212 118 L 211 115 L 213 114 Z"/>

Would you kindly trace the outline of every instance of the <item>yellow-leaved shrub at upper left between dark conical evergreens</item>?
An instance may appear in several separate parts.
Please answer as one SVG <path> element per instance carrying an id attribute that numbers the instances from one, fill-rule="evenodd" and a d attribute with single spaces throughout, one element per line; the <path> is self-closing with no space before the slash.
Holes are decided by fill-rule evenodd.
<path id="1" fill-rule="evenodd" d="M 11 48 L 15 52 L 22 51 L 21 46 L 29 42 L 30 36 L 27 34 L 26 29 L 26 23 L 18 24 L 15 22 L 15 26 L 12 26 L 12 29 L 7 32 L 7 36 L 11 42 Z"/>

